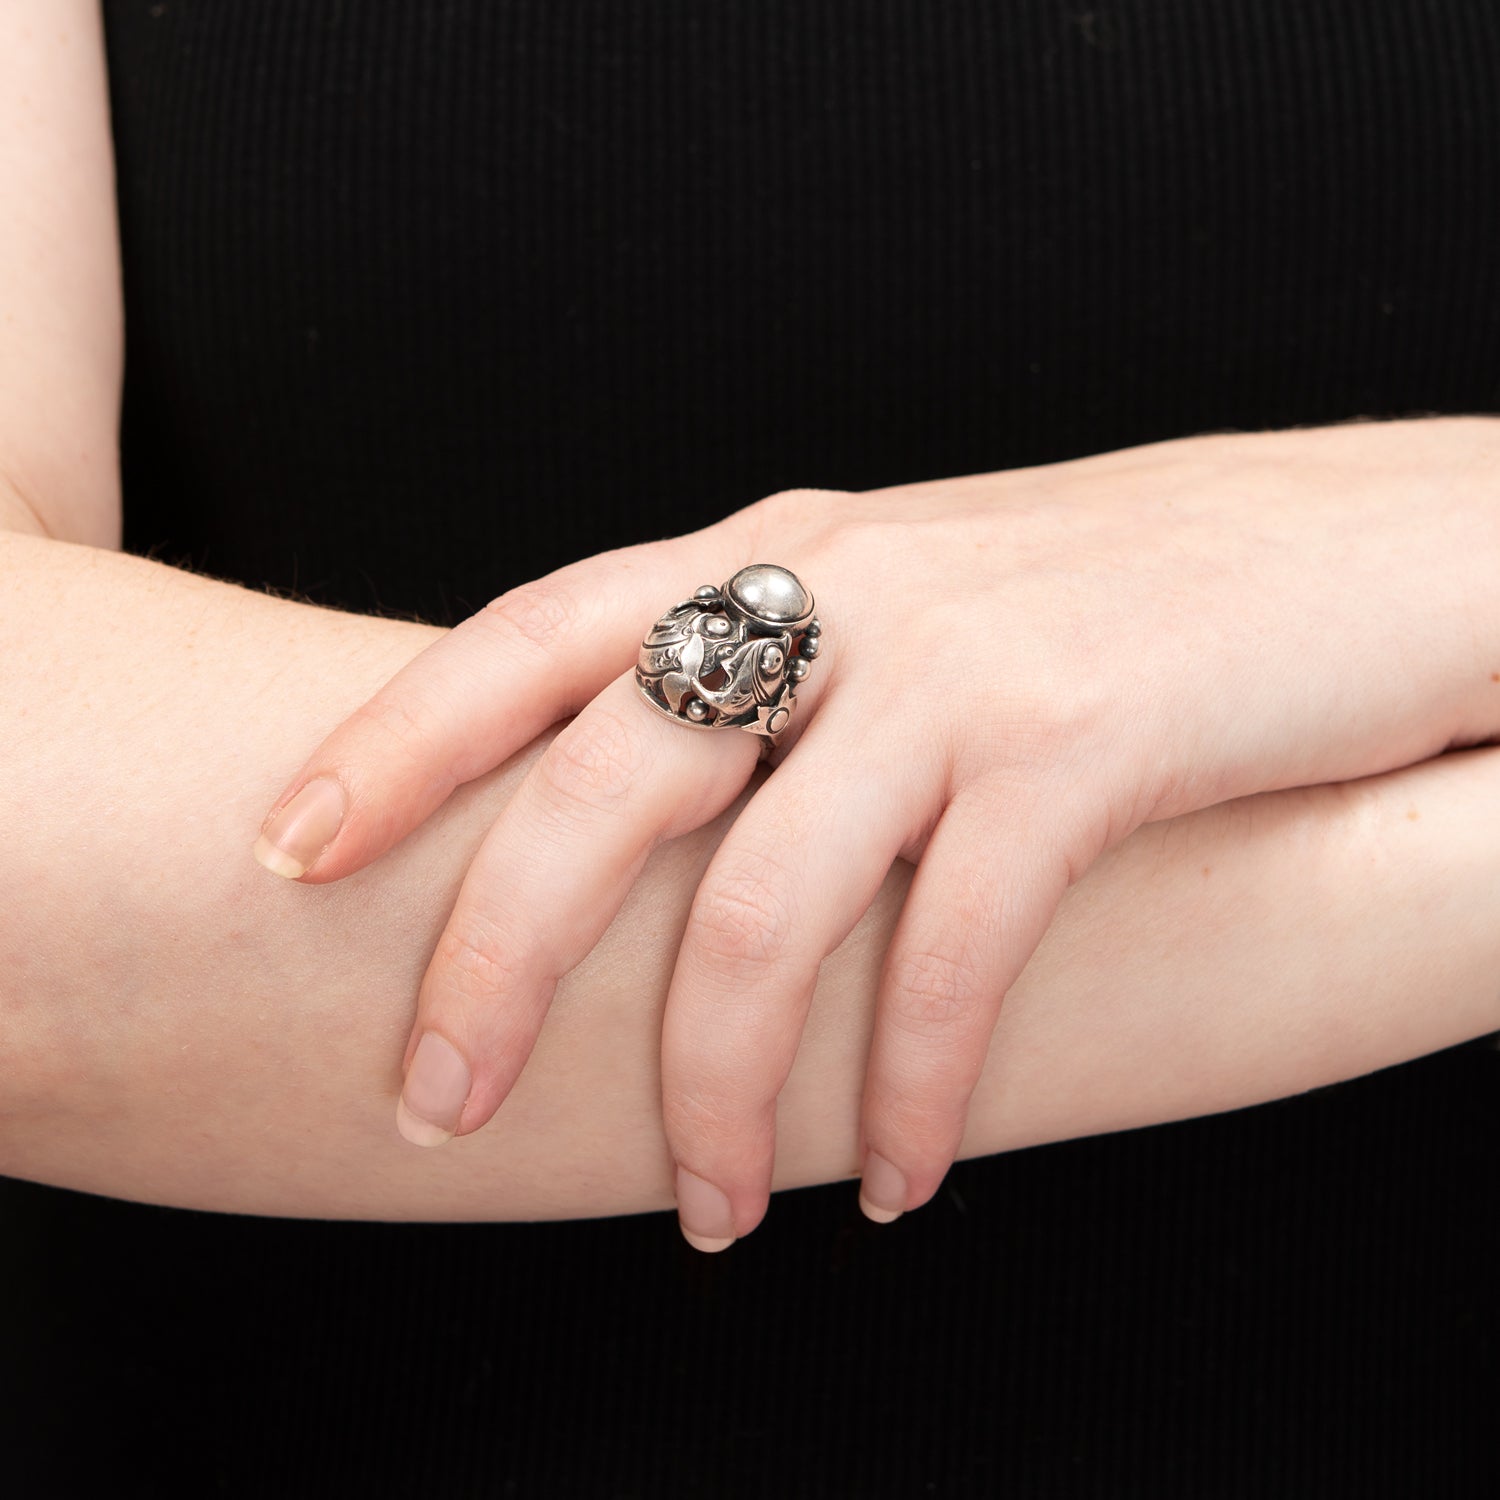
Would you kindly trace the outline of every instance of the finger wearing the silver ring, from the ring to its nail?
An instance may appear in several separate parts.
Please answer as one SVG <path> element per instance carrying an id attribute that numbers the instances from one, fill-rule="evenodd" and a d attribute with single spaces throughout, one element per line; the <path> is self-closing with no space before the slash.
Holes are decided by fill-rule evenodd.
<path id="1" fill-rule="evenodd" d="M 614 921 L 651 849 L 728 807 L 746 734 L 684 732 L 610 682 L 543 752 L 484 836 L 422 981 L 396 1107 L 436 1146 L 478 1130 L 525 1066 L 558 980 Z"/>

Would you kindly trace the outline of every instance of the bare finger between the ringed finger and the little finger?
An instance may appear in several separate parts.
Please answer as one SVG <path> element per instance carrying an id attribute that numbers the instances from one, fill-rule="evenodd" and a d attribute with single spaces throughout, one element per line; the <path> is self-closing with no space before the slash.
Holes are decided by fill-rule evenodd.
<path id="1" fill-rule="evenodd" d="M 662 1098 L 680 1222 L 699 1250 L 723 1250 L 764 1216 L 776 1100 L 818 968 L 933 795 L 915 760 L 852 758 L 849 746 L 866 738 L 864 716 L 830 693 L 740 812 L 693 898 L 662 1030 Z"/>

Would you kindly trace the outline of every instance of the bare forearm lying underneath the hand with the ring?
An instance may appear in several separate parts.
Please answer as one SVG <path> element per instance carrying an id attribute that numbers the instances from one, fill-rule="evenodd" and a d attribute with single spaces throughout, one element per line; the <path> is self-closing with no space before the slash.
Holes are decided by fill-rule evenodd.
<path id="1" fill-rule="evenodd" d="M 370 868 L 276 880 L 249 854 L 270 796 L 441 632 L 27 537 L 0 537 L 0 1170 L 315 1216 L 670 1206 L 660 1014 L 735 808 L 656 852 L 495 1122 L 417 1150 L 393 1124 L 417 986 L 542 741 Z M 1500 752 L 1476 750 L 1142 828 L 1006 998 L 964 1154 L 1275 1098 L 1500 1026 L 1497 813 Z M 780 1186 L 856 1168 L 909 876 L 824 964 Z"/>

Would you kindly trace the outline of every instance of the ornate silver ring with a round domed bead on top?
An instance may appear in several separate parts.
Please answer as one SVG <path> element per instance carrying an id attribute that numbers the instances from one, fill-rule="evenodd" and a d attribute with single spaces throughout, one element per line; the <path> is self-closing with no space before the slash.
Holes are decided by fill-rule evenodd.
<path id="1" fill-rule="evenodd" d="M 813 596 L 789 568 L 752 562 L 674 604 L 640 642 L 636 686 L 674 723 L 748 729 L 768 754 L 822 645 Z"/>

